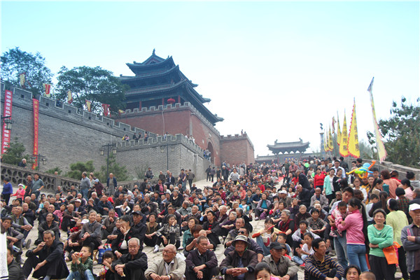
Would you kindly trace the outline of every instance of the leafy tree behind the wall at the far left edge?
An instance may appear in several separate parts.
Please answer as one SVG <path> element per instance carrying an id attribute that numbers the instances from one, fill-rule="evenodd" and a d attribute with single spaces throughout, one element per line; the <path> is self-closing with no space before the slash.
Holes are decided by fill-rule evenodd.
<path id="1" fill-rule="evenodd" d="M 20 87 L 19 75 L 26 72 L 25 88 L 32 94 L 42 94 L 43 83 L 52 83 L 51 70 L 45 66 L 45 58 L 39 52 L 32 54 L 16 47 L 1 55 L 1 79 L 7 87 Z"/>

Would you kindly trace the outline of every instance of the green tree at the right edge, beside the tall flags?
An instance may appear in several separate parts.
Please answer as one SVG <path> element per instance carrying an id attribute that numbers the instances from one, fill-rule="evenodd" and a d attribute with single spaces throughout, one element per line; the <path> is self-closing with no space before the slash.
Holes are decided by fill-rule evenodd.
<path id="1" fill-rule="evenodd" d="M 392 103 L 391 118 L 379 120 L 379 131 L 384 137 L 388 156 L 386 160 L 398 165 L 420 167 L 420 98 L 407 104 L 401 98 L 400 106 Z M 370 144 L 375 144 L 374 134 L 367 132 Z"/>

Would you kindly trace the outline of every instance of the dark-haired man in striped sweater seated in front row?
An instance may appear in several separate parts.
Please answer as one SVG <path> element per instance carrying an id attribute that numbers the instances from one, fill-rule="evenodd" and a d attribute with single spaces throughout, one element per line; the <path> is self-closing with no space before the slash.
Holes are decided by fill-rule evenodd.
<path id="1" fill-rule="evenodd" d="M 304 279 L 334 279 L 340 280 L 344 275 L 344 269 L 336 260 L 325 255 L 327 246 L 321 238 L 312 241 L 315 253 L 304 260 Z"/>

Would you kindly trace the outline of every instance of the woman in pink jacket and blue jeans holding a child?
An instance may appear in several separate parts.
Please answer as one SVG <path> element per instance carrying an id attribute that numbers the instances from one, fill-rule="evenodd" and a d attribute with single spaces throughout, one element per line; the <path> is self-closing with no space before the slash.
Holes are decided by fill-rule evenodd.
<path id="1" fill-rule="evenodd" d="M 360 214 L 361 209 L 361 214 Z M 367 221 L 366 211 L 357 198 L 349 200 L 349 215 L 337 225 L 338 230 L 347 230 L 347 256 L 350 265 L 357 265 L 362 272 L 368 271 L 366 262 Z"/>

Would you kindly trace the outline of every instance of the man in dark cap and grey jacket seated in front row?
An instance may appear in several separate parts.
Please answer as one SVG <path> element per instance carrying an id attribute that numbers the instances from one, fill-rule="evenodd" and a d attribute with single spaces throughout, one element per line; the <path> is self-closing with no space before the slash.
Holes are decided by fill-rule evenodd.
<path id="1" fill-rule="evenodd" d="M 285 244 L 272 242 L 269 244 L 269 253 L 262 262 L 267 262 L 271 273 L 281 280 L 297 280 L 297 271 L 299 268 L 289 258 L 284 255 L 287 252 Z"/>

